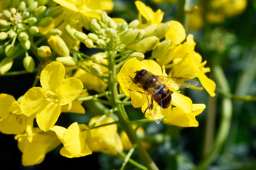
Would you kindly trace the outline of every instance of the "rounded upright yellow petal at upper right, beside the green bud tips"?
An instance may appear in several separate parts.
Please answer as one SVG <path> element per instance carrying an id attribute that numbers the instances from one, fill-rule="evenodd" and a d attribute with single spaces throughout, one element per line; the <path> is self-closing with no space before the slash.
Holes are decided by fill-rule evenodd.
<path id="1" fill-rule="evenodd" d="M 171 23 L 171 28 L 166 33 L 166 39 L 171 39 L 173 45 L 178 45 L 186 38 L 186 31 L 181 23 L 178 21 L 169 21 Z"/>

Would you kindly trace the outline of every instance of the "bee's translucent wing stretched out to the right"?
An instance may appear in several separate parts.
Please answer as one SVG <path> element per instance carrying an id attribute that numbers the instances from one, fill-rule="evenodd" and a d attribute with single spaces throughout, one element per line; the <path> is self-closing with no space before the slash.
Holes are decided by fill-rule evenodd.
<path id="1" fill-rule="evenodd" d="M 191 86 L 197 86 L 198 81 L 194 79 L 188 79 L 185 77 L 167 77 L 167 76 L 157 76 L 162 81 L 164 81 L 165 84 L 177 84 L 179 89 L 185 89 L 189 88 Z"/>

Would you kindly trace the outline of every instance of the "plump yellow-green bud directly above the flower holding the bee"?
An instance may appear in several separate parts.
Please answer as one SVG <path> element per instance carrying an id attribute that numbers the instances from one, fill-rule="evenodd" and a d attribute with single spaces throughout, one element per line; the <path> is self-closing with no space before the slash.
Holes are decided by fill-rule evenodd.
<path id="1" fill-rule="evenodd" d="M 140 40 L 137 45 L 135 45 L 135 50 L 137 50 L 137 52 L 145 53 L 146 51 L 153 50 L 158 44 L 159 38 L 151 36 Z"/>

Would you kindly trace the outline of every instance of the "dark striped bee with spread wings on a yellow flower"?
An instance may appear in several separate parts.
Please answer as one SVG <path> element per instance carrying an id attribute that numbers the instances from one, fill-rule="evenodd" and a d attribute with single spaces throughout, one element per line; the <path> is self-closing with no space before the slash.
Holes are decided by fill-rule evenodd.
<path id="1" fill-rule="evenodd" d="M 183 77 L 157 76 L 147 71 L 146 69 L 136 71 L 135 73 L 136 75 L 134 78 L 130 76 L 129 77 L 132 79 L 134 84 L 144 90 L 143 92 L 136 92 L 146 95 L 146 101 L 148 103 L 148 106 L 144 111 L 144 115 L 146 111 L 149 110 L 151 117 L 158 124 L 161 122 L 161 115 L 163 113 L 163 109 L 169 108 L 169 106 L 171 106 L 171 94 L 174 93 L 174 91 L 171 91 L 168 86 L 166 86 L 166 84 L 177 84 L 179 89 L 196 86 L 198 84 L 198 82 L 193 79 L 187 79 Z M 134 90 L 129 89 L 129 91 Z"/>

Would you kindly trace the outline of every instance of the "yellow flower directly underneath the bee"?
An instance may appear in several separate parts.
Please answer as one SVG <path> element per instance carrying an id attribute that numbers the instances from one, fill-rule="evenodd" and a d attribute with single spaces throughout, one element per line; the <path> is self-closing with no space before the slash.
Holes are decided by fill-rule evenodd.
<path id="1" fill-rule="evenodd" d="M 153 60 L 142 60 L 139 62 L 136 58 L 132 58 L 124 63 L 122 68 L 120 69 L 119 74 L 117 74 L 117 80 L 119 81 L 120 87 L 124 94 L 131 97 L 132 106 L 134 108 L 142 107 L 142 112 L 148 108 L 149 103 L 146 100 L 146 94 L 144 94 L 144 90 L 134 84 L 131 77 L 134 78 L 137 71 L 146 69 L 147 71 L 155 74 L 156 76 L 166 76 L 165 70 L 162 71 L 159 64 L 154 62 Z M 168 86 L 171 91 L 174 91 L 172 96 L 171 105 L 176 106 L 176 108 L 181 109 L 181 111 L 185 113 L 192 112 L 192 101 L 190 98 L 183 96 L 182 94 L 178 93 L 178 85 L 174 81 L 165 81 L 164 84 Z M 137 92 L 140 91 L 140 92 Z M 168 108 L 162 109 L 161 106 L 154 102 L 154 109 L 152 110 L 153 113 L 149 112 L 149 109 L 146 110 L 145 117 L 149 120 L 155 120 L 156 123 L 159 123 L 159 120 L 169 114 L 171 112 L 171 106 Z M 161 112 L 163 110 L 163 112 Z"/>

